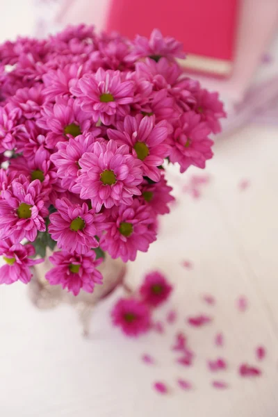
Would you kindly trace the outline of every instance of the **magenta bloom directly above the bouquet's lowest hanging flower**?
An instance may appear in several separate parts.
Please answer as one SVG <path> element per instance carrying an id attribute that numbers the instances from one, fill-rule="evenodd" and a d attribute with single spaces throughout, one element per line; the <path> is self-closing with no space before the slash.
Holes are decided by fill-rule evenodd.
<path id="1" fill-rule="evenodd" d="M 48 230 L 59 249 L 85 254 L 99 246 L 95 236 L 106 227 L 104 214 L 95 214 L 86 203 L 72 204 L 67 198 L 56 200 L 55 207 L 58 211 L 49 215 Z"/>

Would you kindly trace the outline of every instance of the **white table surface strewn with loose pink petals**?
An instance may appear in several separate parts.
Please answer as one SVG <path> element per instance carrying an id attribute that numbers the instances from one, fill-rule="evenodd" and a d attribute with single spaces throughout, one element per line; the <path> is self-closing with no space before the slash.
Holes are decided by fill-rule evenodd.
<path id="1" fill-rule="evenodd" d="M 206 170 L 211 181 L 199 199 L 181 189 L 203 172 L 168 172 L 177 206 L 163 217 L 157 242 L 128 271 L 133 286 L 154 268 L 175 284 L 171 300 L 156 311 L 165 322 L 167 311 L 177 310 L 165 334 L 131 340 L 113 328 L 109 311 L 121 290 L 97 307 L 86 340 L 70 306 L 38 311 L 23 284 L 0 288 L 1 416 L 277 417 L 277 136 L 275 128 L 252 125 L 217 142 Z M 240 190 L 244 179 L 250 186 Z M 183 268 L 183 260 L 193 269 Z M 202 301 L 204 293 L 215 296 L 215 306 Z M 245 313 L 235 306 L 240 295 L 249 301 Z M 199 313 L 211 314 L 213 322 L 188 326 L 185 318 Z M 178 330 L 196 354 L 189 368 L 175 363 L 170 350 Z M 213 343 L 217 332 L 224 334 L 222 348 Z M 240 378 L 238 365 L 256 363 L 258 345 L 267 348 L 263 375 Z M 143 353 L 156 364 L 142 363 Z M 217 356 L 229 368 L 213 375 L 206 360 Z M 178 377 L 193 382 L 193 391 L 181 391 Z M 213 389 L 212 379 L 224 379 L 229 389 Z M 158 380 L 169 394 L 154 391 Z"/>

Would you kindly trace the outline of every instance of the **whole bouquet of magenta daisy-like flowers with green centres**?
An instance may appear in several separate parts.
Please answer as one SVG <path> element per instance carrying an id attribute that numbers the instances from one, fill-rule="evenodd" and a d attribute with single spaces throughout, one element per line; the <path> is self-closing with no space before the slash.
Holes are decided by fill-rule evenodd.
<path id="1" fill-rule="evenodd" d="M 158 30 L 131 41 L 85 25 L 0 46 L 1 284 L 28 283 L 55 250 L 49 285 L 92 293 L 105 254 L 147 252 L 174 199 L 163 164 L 204 168 L 225 115 L 184 57 Z"/>

